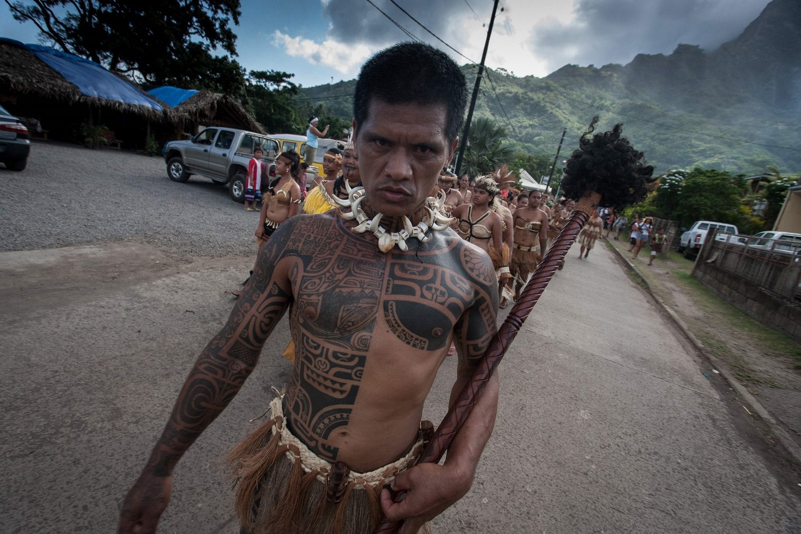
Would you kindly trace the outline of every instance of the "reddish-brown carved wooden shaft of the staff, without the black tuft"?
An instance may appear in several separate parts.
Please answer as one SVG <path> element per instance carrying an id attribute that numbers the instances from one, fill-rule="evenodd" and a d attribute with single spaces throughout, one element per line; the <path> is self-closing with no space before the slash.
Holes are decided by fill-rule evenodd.
<path id="1" fill-rule="evenodd" d="M 431 462 L 437 464 L 445 451 L 450 447 L 453 438 L 456 437 L 461 425 L 470 415 L 473 405 L 484 391 L 489 378 L 495 372 L 498 363 L 512 343 L 513 339 L 520 331 L 520 328 L 525 322 L 525 318 L 529 316 L 534 304 L 540 299 L 542 291 L 545 291 L 545 286 L 548 285 L 553 274 L 559 268 L 559 264 L 564 261 L 567 251 L 573 245 L 578 236 L 578 232 L 582 231 L 584 223 L 590 218 L 595 207 L 601 201 L 601 194 L 596 191 L 586 191 L 584 196 L 578 200 L 573 213 L 567 219 L 562 231 L 559 232 L 557 238 L 553 241 L 545 256 L 541 259 L 537 269 L 531 275 L 529 282 L 525 284 L 520 297 L 506 316 L 505 321 L 498 328 L 497 334 L 489 342 L 489 347 L 482 356 L 481 361 L 478 363 L 476 370 L 473 371 L 473 376 L 470 381 L 462 387 L 457 396 L 456 401 L 449 408 L 448 413 L 445 414 L 445 419 L 437 428 L 434 437 L 429 444 L 426 445 L 418 463 Z M 407 492 L 400 492 L 395 497 L 395 502 L 404 500 Z M 400 521 L 390 521 L 386 517 L 381 520 L 380 524 L 373 531 L 373 534 L 393 534 L 400 528 Z"/>

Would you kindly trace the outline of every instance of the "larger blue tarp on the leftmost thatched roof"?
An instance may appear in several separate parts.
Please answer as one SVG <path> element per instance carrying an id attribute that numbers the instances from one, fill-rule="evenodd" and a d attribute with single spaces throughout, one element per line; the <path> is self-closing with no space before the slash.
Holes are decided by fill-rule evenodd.
<path id="1" fill-rule="evenodd" d="M 88 59 L 78 58 L 73 54 L 59 52 L 46 46 L 33 44 L 22 44 L 11 39 L 3 39 L 13 42 L 17 46 L 24 46 L 31 53 L 36 55 L 50 66 L 51 69 L 66 78 L 67 82 L 74 84 L 85 96 L 104 98 L 115 102 L 124 102 L 134 106 L 149 107 L 152 110 L 162 111 L 162 106 L 151 98 L 147 98 L 136 86 L 111 74 L 103 66 Z"/>

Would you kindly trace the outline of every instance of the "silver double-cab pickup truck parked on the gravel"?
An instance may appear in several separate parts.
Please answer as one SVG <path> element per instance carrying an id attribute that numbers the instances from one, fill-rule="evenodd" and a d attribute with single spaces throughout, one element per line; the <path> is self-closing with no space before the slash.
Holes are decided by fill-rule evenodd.
<path id="1" fill-rule="evenodd" d="M 245 179 L 253 150 L 261 147 L 261 161 L 268 175 L 275 175 L 278 142 L 268 135 L 247 130 L 214 126 L 201 130 L 187 141 L 170 141 L 164 145 L 167 176 L 173 182 L 186 182 L 191 175 L 205 176 L 219 184 L 227 184 L 231 199 L 244 202 Z M 264 175 L 264 179 L 268 179 Z"/>

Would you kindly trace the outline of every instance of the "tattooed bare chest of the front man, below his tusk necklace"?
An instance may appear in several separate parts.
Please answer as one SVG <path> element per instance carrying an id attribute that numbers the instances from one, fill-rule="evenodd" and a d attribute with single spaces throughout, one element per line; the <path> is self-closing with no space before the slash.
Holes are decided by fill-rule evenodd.
<path id="1" fill-rule="evenodd" d="M 292 319 L 312 339 L 367 351 L 376 328 L 421 350 L 445 345 L 475 298 L 447 261 L 367 255 L 343 246 L 317 254 L 292 275 Z"/>

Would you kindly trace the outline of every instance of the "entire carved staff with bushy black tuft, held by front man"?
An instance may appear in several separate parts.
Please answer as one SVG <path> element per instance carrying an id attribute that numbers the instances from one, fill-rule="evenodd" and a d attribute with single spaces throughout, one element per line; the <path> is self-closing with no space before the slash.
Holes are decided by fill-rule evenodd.
<path id="1" fill-rule="evenodd" d="M 622 126 L 616 124 L 611 131 L 590 137 L 598 117 L 590 122 L 590 127 L 579 139 L 579 147 L 566 163 L 565 179 L 562 189 L 569 199 L 578 199 L 575 210 L 570 214 L 565 226 L 545 256 L 531 275 L 529 283 L 514 303 L 497 334 L 489 343 L 478 363 L 470 381 L 459 393 L 453 405 L 445 414 L 445 419 L 437 428 L 423 454 L 420 462 L 438 463 L 448 450 L 453 438 L 476 404 L 490 376 L 498 363 L 501 363 L 506 350 L 520 331 L 525 318 L 540 299 L 542 291 L 548 285 L 553 273 L 565 259 L 567 251 L 576 240 L 578 232 L 590 217 L 595 207 L 603 202 L 605 207 L 614 207 L 620 211 L 624 207 L 645 199 L 652 182 L 654 167 L 644 165 L 643 154 L 631 147 L 628 139 L 621 137 Z M 395 502 L 405 498 L 406 492 L 400 492 Z M 386 517 L 378 524 L 374 534 L 390 534 L 400 528 L 400 521 L 390 521 Z"/>

